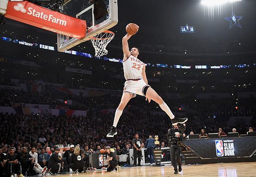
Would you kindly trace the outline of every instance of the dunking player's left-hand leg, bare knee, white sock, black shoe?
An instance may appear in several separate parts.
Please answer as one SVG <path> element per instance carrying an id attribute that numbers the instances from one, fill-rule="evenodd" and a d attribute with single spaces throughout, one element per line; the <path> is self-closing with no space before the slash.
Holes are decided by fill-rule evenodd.
<path id="1" fill-rule="evenodd" d="M 119 118 L 121 117 L 123 110 L 125 109 L 125 106 L 127 105 L 127 103 L 130 101 L 130 99 L 132 98 L 133 94 L 132 93 L 128 93 L 125 92 L 122 95 L 121 101 L 119 103 L 119 106 L 116 109 L 116 113 L 115 113 L 115 118 L 114 118 L 114 122 L 113 122 L 113 126 L 111 127 L 111 130 L 109 131 L 109 133 L 107 134 L 107 137 L 114 137 L 114 135 L 117 134 L 116 131 L 116 125 L 119 121 Z"/>

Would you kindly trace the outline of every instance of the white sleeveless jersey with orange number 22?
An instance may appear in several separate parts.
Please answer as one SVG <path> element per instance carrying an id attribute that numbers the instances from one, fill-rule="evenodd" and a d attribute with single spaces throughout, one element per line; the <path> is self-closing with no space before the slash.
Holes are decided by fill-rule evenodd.
<path id="1" fill-rule="evenodd" d="M 125 80 L 129 79 L 142 79 L 142 69 L 144 62 L 140 61 L 136 57 L 130 55 L 127 60 L 123 62 Z"/>

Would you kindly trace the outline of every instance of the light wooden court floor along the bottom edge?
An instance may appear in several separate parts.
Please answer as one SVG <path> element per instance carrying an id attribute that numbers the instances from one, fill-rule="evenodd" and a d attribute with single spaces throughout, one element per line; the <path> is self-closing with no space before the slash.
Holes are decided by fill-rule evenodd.
<path id="1" fill-rule="evenodd" d="M 172 166 L 127 167 L 119 171 L 90 171 L 79 174 L 58 175 L 63 177 L 256 177 L 256 162 L 218 163 L 202 165 L 183 165 L 179 174 L 173 174 Z"/>

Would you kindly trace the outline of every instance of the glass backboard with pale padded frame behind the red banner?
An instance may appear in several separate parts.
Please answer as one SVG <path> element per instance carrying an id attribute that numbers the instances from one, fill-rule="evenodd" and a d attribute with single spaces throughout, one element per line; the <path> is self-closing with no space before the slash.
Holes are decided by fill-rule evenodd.
<path id="1" fill-rule="evenodd" d="M 61 8 L 68 16 L 86 20 L 87 30 L 82 39 L 57 34 L 59 52 L 91 40 L 91 37 L 112 28 L 118 22 L 117 0 L 66 0 Z"/>

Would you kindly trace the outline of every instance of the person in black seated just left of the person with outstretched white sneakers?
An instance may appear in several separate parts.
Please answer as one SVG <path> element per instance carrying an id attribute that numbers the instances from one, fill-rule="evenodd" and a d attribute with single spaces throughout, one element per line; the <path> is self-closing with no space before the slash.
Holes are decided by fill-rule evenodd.
<path id="1" fill-rule="evenodd" d="M 34 158 L 29 155 L 27 150 L 28 149 L 25 146 L 22 148 L 21 152 L 18 154 L 18 161 L 20 161 L 22 166 L 22 174 L 24 176 L 26 176 L 26 174 L 28 174 L 28 176 L 32 176 L 35 175 L 35 172 L 33 171 Z"/>

